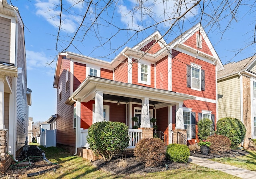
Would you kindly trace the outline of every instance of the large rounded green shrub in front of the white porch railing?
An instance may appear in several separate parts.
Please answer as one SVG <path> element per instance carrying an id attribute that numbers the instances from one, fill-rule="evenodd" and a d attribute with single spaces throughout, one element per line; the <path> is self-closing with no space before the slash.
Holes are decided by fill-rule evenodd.
<path id="1" fill-rule="evenodd" d="M 104 161 L 129 146 L 128 126 L 120 122 L 97 122 L 88 129 L 87 142 L 90 149 L 100 154 Z"/>

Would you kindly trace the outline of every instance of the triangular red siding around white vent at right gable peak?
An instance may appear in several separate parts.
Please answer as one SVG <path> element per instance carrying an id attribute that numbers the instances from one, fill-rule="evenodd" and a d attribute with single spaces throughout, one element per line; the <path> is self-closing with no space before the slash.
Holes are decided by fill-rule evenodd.
<path id="1" fill-rule="evenodd" d="M 203 39 L 203 37 L 202 37 L 202 48 L 198 48 L 196 46 L 196 34 L 199 34 L 199 31 L 196 32 L 195 34 L 193 34 L 188 40 L 186 40 L 186 42 L 184 42 L 184 44 L 187 45 L 187 46 L 190 46 L 190 47 L 192 47 L 194 49 L 198 49 L 199 51 L 204 52 L 204 53 L 212 56 L 212 52 L 210 51 L 210 49 L 207 46 L 207 44 L 206 44 L 205 40 Z"/>

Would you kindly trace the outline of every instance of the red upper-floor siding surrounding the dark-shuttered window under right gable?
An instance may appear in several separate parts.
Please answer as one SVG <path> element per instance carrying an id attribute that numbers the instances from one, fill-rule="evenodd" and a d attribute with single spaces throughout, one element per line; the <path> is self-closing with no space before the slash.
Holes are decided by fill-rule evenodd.
<path id="1" fill-rule="evenodd" d="M 191 62 L 202 66 L 202 70 L 205 71 L 205 91 L 191 90 L 187 87 L 186 65 L 190 65 Z M 216 99 L 215 65 L 172 50 L 172 91 Z"/>

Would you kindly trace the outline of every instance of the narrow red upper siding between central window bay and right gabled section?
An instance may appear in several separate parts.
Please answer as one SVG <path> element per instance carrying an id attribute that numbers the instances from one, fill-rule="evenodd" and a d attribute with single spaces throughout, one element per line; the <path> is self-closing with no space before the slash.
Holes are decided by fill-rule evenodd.
<path id="1" fill-rule="evenodd" d="M 168 56 L 156 62 L 156 88 L 168 90 Z"/>

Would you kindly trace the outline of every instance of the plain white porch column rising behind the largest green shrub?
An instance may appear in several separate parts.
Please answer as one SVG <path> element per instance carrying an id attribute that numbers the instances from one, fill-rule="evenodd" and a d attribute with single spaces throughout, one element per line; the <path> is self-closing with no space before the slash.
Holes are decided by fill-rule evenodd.
<path id="1" fill-rule="evenodd" d="M 103 91 L 96 91 L 95 93 L 95 109 L 94 109 L 93 121 L 99 122 L 104 121 L 103 118 Z"/>

